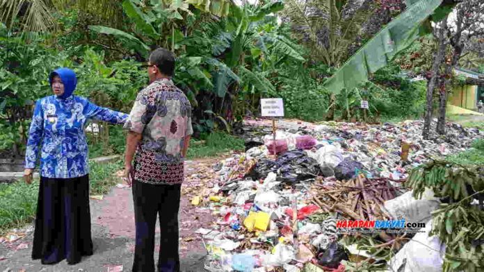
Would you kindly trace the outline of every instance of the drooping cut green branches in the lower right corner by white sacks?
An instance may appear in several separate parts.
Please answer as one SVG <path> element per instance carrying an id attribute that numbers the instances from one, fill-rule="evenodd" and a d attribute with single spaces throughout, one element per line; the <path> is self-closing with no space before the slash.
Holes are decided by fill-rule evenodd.
<path id="1" fill-rule="evenodd" d="M 482 141 L 473 146 L 482 148 Z M 474 243 L 484 237 L 484 211 L 470 205 L 472 198 L 484 194 L 483 168 L 484 164 L 462 166 L 431 161 L 413 169 L 408 177 L 407 185 L 412 187 L 415 198 L 420 198 L 428 187 L 435 196 L 451 199 L 450 204 L 442 203 L 432 212 L 430 235 L 437 235 L 446 245 L 443 271 L 477 271 L 476 267 L 483 266 L 483 247 Z"/>

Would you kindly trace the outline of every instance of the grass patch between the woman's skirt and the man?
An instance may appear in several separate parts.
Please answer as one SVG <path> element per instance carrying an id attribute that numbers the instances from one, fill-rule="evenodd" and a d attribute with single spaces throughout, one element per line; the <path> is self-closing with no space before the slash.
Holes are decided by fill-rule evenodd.
<path id="1" fill-rule="evenodd" d="M 114 173 L 124 168 L 122 160 L 108 164 L 89 163 L 90 194 L 107 194 L 118 183 Z"/>

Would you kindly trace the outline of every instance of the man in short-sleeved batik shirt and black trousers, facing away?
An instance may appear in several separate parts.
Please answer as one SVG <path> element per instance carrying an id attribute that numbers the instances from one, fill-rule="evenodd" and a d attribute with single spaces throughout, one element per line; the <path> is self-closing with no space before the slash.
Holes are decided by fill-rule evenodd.
<path id="1" fill-rule="evenodd" d="M 175 71 L 170 51 L 156 49 L 145 66 L 150 85 L 138 94 L 124 125 L 129 130 L 125 176 L 132 184 L 136 221 L 133 271 L 154 271 L 157 214 L 159 271 L 179 271 L 178 210 L 184 157 L 193 133 L 191 104 L 170 79 Z"/>

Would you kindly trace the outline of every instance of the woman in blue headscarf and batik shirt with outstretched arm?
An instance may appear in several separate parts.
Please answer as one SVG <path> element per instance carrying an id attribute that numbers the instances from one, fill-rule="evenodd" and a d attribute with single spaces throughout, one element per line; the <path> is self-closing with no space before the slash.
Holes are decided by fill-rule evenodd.
<path id="1" fill-rule="evenodd" d="M 31 183 L 42 146 L 32 259 L 76 264 L 92 255 L 84 125 L 88 119 L 124 124 L 128 115 L 74 96 L 77 79 L 71 69 L 57 69 L 49 82 L 54 95 L 35 103 L 25 155 L 24 178 Z"/>

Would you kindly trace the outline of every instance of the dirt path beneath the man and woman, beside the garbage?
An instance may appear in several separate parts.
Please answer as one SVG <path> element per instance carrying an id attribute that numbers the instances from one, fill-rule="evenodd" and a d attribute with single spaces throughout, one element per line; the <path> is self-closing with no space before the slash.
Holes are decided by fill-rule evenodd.
<path id="1" fill-rule="evenodd" d="M 200 235 L 194 232 L 198 228 L 207 228 L 213 217 L 207 208 L 191 205 L 191 197 L 213 184 L 212 165 L 218 160 L 220 158 L 186 162 L 179 213 L 181 271 L 204 271 L 206 251 Z M 11 244 L 0 244 L 0 272 L 131 271 L 135 235 L 131 188 L 113 187 L 102 200 L 91 199 L 90 207 L 94 255 L 84 257 L 74 266 L 68 265 L 65 260 L 54 266 L 44 266 L 40 260 L 31 260 L 33 232 L 27 232 L 25 237 Z M 159 229 L 155 243 L 156 263 Z"/>

